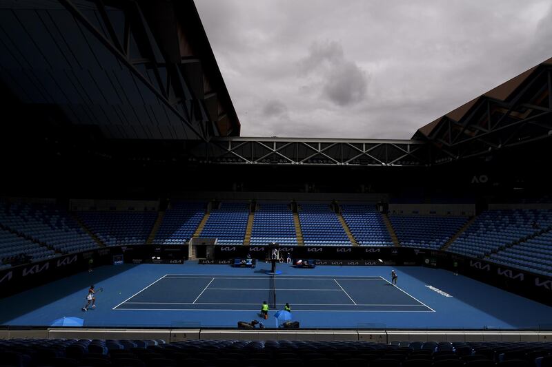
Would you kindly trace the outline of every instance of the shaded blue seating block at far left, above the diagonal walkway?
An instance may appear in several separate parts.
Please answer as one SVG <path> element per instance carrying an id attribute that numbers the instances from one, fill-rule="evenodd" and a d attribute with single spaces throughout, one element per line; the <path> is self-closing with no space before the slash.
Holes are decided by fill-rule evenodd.
<path id="1" fill-rule="evenodd" d="M 55 205 L 1 201 L 0 224 L 61 253 L 97 248 L 69 213 Z"/>

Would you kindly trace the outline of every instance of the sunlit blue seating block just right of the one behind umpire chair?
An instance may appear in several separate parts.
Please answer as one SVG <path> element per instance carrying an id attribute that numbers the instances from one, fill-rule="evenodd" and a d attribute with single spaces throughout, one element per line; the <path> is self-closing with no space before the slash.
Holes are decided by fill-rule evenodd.
<path id="1" fill-rule="evenodd" d="M 299 221 L 307 246 L 351 246 L 330 205 L 302 203 L 299 208 Z"/>

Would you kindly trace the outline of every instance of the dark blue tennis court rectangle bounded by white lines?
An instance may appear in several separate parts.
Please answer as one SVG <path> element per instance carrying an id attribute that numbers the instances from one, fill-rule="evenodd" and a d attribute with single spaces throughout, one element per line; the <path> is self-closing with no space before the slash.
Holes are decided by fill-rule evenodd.
<path id="1" fill-rule="evenodd" d="M 276 294 L 276 308 L 293 311 L 435 312 L 379 276 L 166 274 L 114 310 L 259 311 Z"/>

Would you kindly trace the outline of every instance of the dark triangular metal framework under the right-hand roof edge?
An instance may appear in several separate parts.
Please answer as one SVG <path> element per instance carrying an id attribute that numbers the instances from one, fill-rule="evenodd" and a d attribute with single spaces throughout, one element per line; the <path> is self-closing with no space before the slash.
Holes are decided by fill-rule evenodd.
<path id="1" fill-rule="evenodd" d="M 460 120 L 443 116 L 427 141 L 433 163 L 443 164 L 551 136 L 552 65 L 541 64 L 506 100 L 484 95 Z"/>

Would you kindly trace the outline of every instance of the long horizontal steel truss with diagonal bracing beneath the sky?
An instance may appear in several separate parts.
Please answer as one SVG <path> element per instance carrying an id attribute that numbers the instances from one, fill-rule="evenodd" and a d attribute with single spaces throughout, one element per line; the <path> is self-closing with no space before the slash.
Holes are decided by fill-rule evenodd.
<path id="1" fill-rule="evenodd" d="M 417 140 L 218 138 L 192 154 L 226 164 L 420 167 L 430 164 L 427 148 Z"/>

